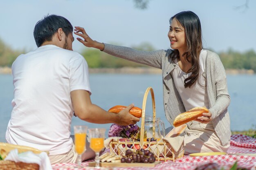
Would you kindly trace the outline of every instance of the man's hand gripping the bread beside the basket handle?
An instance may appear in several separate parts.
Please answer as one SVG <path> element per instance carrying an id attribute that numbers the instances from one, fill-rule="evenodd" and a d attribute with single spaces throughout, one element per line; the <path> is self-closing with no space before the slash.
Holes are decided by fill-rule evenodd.
<path id="1" fill-rule="evenodd" d="M 119 115 L 119 120 L 116 124 L 119 125 L 130 125 L 130 124 L 136 124 L 137 121 L 139 121 L 138 117 L 135 117 L 129 113 L 129 110 L 133 108 L 133 104 L 130 104 L 125 108 L 124 110 L 121 110 L 118 115 Z"/>

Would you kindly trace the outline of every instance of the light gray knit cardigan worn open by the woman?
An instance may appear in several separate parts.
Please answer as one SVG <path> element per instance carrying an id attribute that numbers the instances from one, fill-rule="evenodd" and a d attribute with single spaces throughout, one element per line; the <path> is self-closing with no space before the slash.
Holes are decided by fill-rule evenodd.
<path id="1" fill-rule="evenodd" d="M 124 46 L 105 44 L 103 51 L 116 57 L 162 69 L 164 111 L 167 120 L 173 124 L 175 117 L 186 111 L 170 74 L 177 67 L 171 60 L 171 49 L 138 51 Z M 229 144 L 231 136 L 227 110 L 230 96 L 227 91 L 225 69 L 216 53 L 207 50 L 206 69 L 202 74 L 207 79 L 209 110 L 212 113 L 214 130 L 224 146 Z"/>

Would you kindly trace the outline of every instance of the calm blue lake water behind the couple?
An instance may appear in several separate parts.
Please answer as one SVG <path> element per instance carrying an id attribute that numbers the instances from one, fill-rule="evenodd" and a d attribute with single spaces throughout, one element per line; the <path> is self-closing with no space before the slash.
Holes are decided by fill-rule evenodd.
<path id="1" fill-rule="evenodd" d="M 256 125 L 256 75 L 227 75 L 231 104 L 229 114 L 231 130 L 248 130 Z M 130 74 L 90 74 L 92 103 L 108 110 L 115 105 L 127 106 L 134 103 L 142 107 L 146 88 L 151 86 L 155 94 L 156 116 L 169 126 L 164 115 L 162 76 L 161 75 L 130 75 Z M 0 74 L 0 142 L 5 142 L 5 131 L 11 116 L 11 100 L 13 99 L 12 75 Z M 152 115 L 150 93 L 146 103 L 146 115 Z M 140 122 L 138 125 L 140 126 Z M 87 125 L 90 128 L 103 127 L 107 131 L 111 124 L 91 124 L 72 118 L 74 125 Z M 107 135 L 107 133 L 106 133 Z M 106 136 L 107 137 L 107 136 Z"/>

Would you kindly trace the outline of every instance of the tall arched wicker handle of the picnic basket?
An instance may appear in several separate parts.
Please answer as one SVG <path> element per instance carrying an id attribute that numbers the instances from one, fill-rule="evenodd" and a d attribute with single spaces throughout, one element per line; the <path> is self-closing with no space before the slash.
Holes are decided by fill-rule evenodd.
<path id="1" fill-rule="evenodd" d="M 144 143 L 144 131 L 145 131 L 145 109 L 146 109 L 146 102 L 147 102 L 147 97 L 148 97 L 148 92 L 150 91 L 151 93 L 151 98 L 152 98 L 152 107 L 153 107 L 153 122 L 155 122 L 155 96 L 154 96 L 154 91 L 152 87 L 148 87 L 146 89 L 146 92 L 144 94 L 143 98 L 143 103 L 142 103 L 142 113 L 141 113 L 141 129 L 140 129 L 140 144 L 141 147 L 143 146 Z M 154 127 L 153 127 L 154 128 Z M 154 131 L 154 130 L 153 130 Z"/>

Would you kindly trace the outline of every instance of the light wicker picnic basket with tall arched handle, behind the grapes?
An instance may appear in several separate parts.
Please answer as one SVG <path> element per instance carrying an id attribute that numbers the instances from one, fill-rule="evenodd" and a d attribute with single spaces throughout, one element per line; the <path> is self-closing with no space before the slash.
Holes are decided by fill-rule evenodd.
<path id="1" fill-rule="evenodd" d="M 170 144 L 165 141 L 144 141 L 144 129 L 145 129 L 145 108 L 146 108 L 146 100 L 148 93 L 151 93 L 152 97 L 152 106 L 153 106 L 153 121 L 155 121 L 155 97 L 153 88 L 148 87 L 143 99 L 142 104 L 142 115 L 141 115 L 141 131 L 140 131 L 140 141 L 112 141 L 110 142 L 110 152 L 115 153 L 116 155 L 125 155 L 125 151 L 127 149 L 131 149 L 128 146 L 139 146 L 139 148 L 145 148 L 145 150 L 150 150 L 156 155 L 156 159 L 158 161 L 167 161 L 181 158 L 184 156 L 184 142 L 180 146 L 180 149 L 175 152 L 173 148 L 171 148 Z M 154 126 L 153 126 L 154 129 Z M 153 130 L 154 131 L 154 130 Z M 154 135 L 154 134 L 153 134 Z M 135 151 L 136 148 L 132 147 Z"/>

